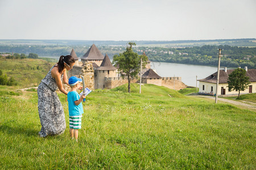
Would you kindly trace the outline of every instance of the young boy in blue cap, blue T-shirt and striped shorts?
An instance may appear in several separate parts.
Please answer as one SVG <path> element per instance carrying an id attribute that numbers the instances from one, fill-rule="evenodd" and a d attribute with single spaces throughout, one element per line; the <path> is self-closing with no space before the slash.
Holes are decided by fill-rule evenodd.
<path id="1" fill-rule="evenodd" d="M 78 130 L 81 129 L 82 113 L 84 113 L 81 101 L 85 99 L 85 95 L 80 97 L 76 92 L 80 88 L 80 82 L 82 82 L 82 79 L 76 76 L 72 76 L 68 80 L 68 84 L 71 87 L 71 91 L 68 92 L 69 134 L 72 139 L 75 135 L 76 142 Z"/>

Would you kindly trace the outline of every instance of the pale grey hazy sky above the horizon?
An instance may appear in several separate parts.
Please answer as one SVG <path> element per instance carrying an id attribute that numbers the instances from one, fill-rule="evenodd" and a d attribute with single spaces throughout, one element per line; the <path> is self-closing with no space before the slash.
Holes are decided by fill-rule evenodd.
<path id="1" fill-rule="evenodd" d="M 255 18 L 255 0 L 0 0 L 0 39 L 246 39 Z"/>

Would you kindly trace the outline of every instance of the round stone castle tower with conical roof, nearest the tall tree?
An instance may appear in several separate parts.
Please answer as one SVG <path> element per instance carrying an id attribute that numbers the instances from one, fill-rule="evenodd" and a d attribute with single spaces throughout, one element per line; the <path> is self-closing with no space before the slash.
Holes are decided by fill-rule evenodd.
<path id="1" fill-rule="evenodd" d="M 114 78 L 115 70 L 117 69 L 112 65 L 108 54 L 106 54 L 101 63 L 101 66 L 96 69 L 96 82 L 94 83 L 94 88 L 108 88 L 106 87 L 105 79 Z"/>

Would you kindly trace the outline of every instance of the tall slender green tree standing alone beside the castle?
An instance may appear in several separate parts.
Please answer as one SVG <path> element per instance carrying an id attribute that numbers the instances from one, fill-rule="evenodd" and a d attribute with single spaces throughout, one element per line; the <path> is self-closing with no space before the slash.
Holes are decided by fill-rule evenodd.
<path id="1" fill-rule="evenodd" d="M 130 93 L 130 82 L 131 79 L 137 78 L 139 70 L 141 68 L 141 58 L 143 67 L 146 65 L 147 56 L 138 56 L 137 53 L 133 52 L 132 46 L 136 45 L 134 42 L 129 42 L 130 46 L 127 46 L 126 51 L 115 55 L 113 57 L 113 63 L 119 65 L 118 71 L 122 71 L 128 79 L 128 92 Z"/>

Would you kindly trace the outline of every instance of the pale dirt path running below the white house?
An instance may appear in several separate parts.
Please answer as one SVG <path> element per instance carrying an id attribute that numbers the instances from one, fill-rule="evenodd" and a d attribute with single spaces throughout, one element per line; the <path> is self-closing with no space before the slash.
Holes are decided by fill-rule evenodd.
<path id="1" fill-rule="evenodd" d="M 215 97 L 213 97 L 213 96 L 196 96 L 196 97 L 204 97 L 204 98 L 215 100 Z M 237 106 L 240 106 L 240 107 L 243 107 L 243 108 L 247 108 L 247 109 L 256 111 L 256 103 L 248 102 L 250 104 L 247 104 L 247 103 L 243 103 L 242 101 L 234 101 L 234 100 L 229 100 L 229 99 L 223 99 L 221 97 L 218 97 L 218 101 L 224 101 L 225 103 L 230 103 L 230 104 L 233 104 L 233 105 L 237 105 Z"/>

